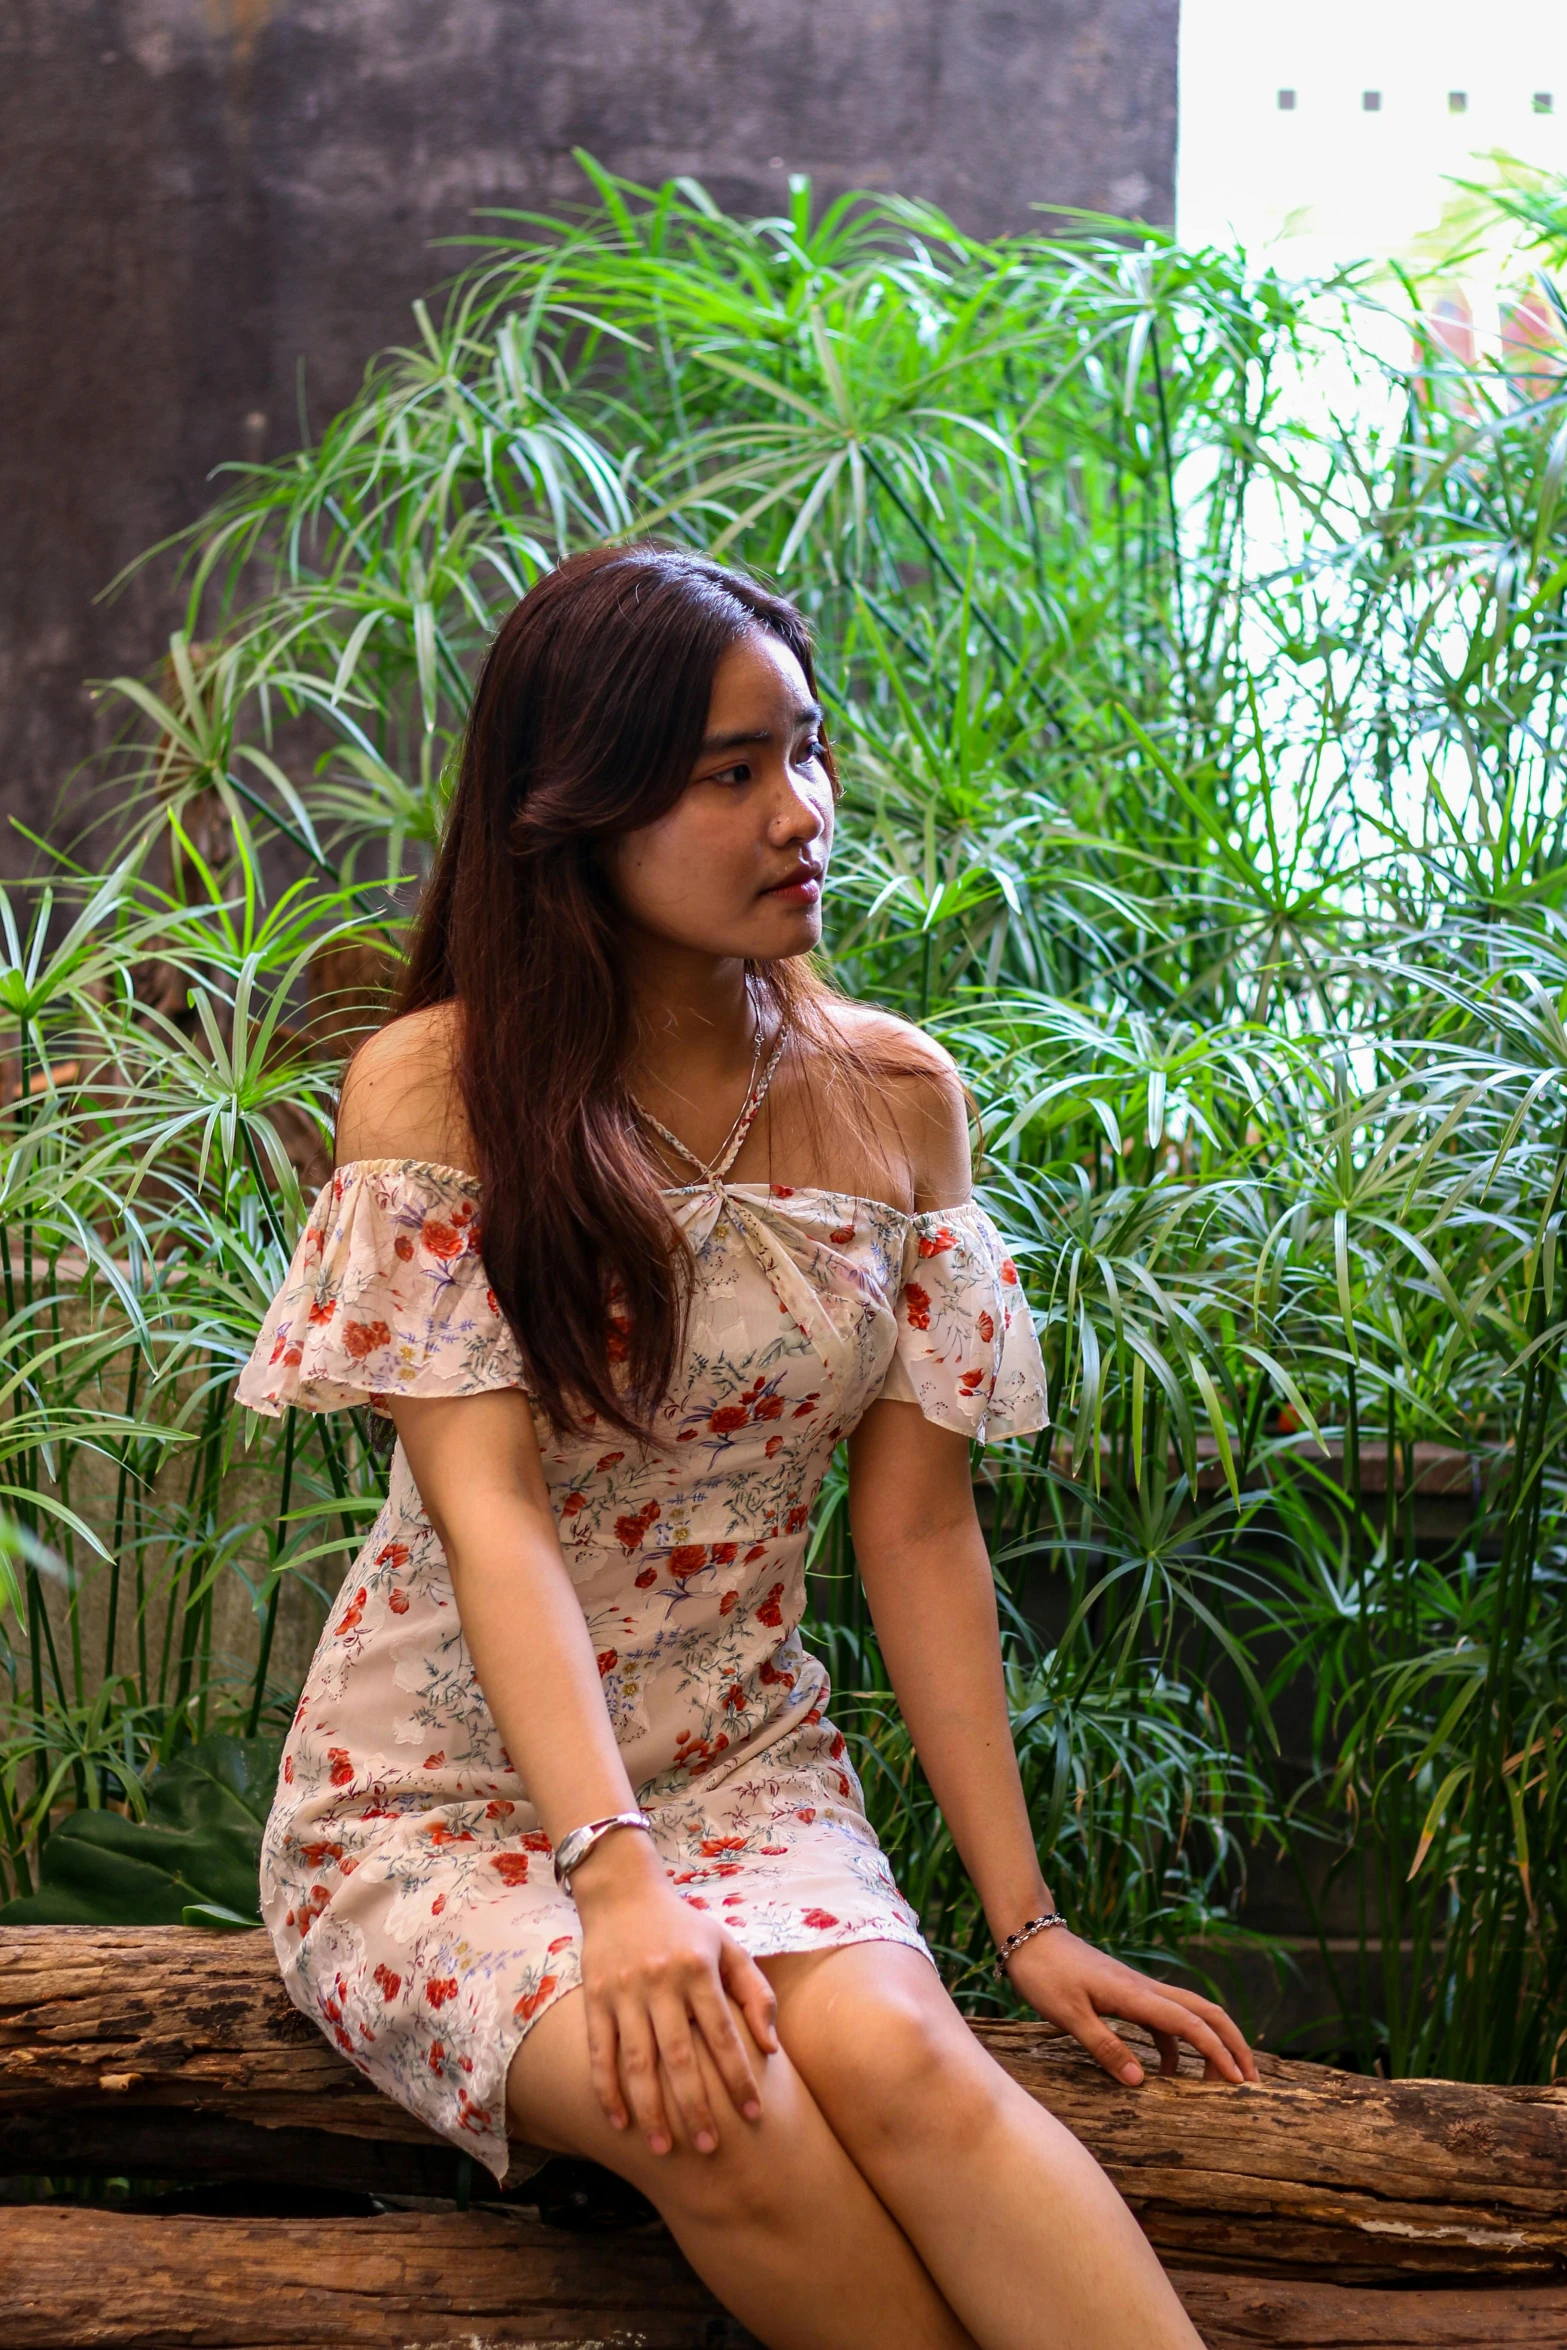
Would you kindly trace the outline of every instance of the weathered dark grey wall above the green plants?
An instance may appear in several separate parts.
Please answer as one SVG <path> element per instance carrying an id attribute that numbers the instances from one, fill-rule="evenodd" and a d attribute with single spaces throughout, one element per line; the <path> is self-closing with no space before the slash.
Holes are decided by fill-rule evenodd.
<path id="1" fill-rule="evenodd" d="M 571 148 L 771 209 L 785 172 L 1168 221 L 1179 0 L 5 0 L 0 813 L 59 822 L 85 679 L 141 670 L 167 576 L 94 604 L 298 437 L 449 273 L 477 204 L 559 207 Z M 61 825 L 61 832 L 68 830 Z M 0 870 L 31 853 L 0 827 Z"/>

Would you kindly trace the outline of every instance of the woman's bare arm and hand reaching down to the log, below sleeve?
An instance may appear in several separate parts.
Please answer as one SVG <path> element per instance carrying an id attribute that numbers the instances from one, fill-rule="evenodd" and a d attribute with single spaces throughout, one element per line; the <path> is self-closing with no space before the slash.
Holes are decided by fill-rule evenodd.
<path id="1" fill-rule="evenodd" d="M 975 1516 L 968 1438 L 919 1405 L 881 1401 L 848 1441 L 848 1506 L 860 1577 L 893 1690 L 989 1929 L 1006 1941 L 1052 1908 L 1017 1772 L 1001 1671 L 996 1586 Z M 1175 2070 L 1177 2042 L 1210 2080 L 1257 2080 L 1252 2054 L 1212 2000 L 1156 1983 L 1071 1929 L 1034 1934 L 1013 1988 L 1069 2030 L 1116 2080 L 1142 2066 L 1104 2016 L 1142 2023 Z"/>

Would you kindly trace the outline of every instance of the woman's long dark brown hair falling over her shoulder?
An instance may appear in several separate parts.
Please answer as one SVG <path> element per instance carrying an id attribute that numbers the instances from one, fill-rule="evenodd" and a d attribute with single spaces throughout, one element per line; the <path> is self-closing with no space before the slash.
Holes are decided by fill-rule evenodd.
<path id="1" fill-rule="evenodd" d="M 627 1090 L 632 999 L 606 841 L 665 815 L 700 754 L 719 660 L 811 630 L 738 571 L 658 543 L 573 555 L 489 649 L 399 1010 L 456 1001 L 456 1083 L 484 1180 L 484 1264 L 550 1419 L 641 1436 L 679 1356 L 686 1246 Z M 836 790 L 836 776 L 834 776 Z M 759 964 L 811 1022 L 820 982 Z"/>

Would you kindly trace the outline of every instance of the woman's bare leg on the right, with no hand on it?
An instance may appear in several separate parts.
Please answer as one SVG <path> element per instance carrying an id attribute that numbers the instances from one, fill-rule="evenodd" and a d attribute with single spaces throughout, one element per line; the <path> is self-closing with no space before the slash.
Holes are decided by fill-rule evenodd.
<path id="1" fill-rule="evenodd" d="M 834 2136 L 982 2350 L 1201 2350 L 1099 2164 L 984 2054 L 919 1950 L 761 1965 Z"/>

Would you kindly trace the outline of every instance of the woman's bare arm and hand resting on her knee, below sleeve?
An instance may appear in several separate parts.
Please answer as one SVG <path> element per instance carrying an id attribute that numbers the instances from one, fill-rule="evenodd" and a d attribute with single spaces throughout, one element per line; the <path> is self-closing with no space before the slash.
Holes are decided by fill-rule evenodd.
<path id="1" fill-rule="evenodd" d="M 505 1751 L 552 1845 L 590 1819 L 634 1810 L 604 1706 L 533 1436 L 517 1389 L 392 1403 L 413 1483 L 439 1535 L 468 1652 Z M 599 2103 L 670 2150 L 660 2066 L 698 2153 L 717 2146 L 693 2030 L 712 2049 L 735 2113 L 761 2113 L 728 2000 L 775 2049 L 761 1967 L 670 1887 L 651 1838 L 606 1835 L 571 1875 L 583 1920 L 587 2049 Z M 726 1998 L 728 1993 L 728 1998 Z"/>

